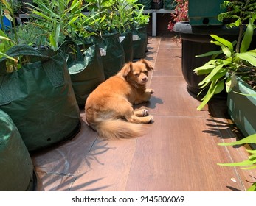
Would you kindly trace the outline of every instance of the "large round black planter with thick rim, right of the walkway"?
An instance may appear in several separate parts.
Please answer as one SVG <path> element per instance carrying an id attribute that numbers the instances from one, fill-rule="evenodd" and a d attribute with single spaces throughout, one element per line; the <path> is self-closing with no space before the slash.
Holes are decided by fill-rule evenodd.
<path id="1" fill-rule="evenodd" d="M 238 28 L 228 29 L 226 26 L 191 26 L 187 22 L 178 22 L 174 25 L 173 30 L 178 32 L 182 39 L 181 68 L 184 79 L 187 82 L 187 89 L 197 95 L 201 91 L 198 88 L 198 83 L 205 76 L 196 75 L 193 69 L 204 65 L 211 57 L 196 57 L 196 55 L 221 49 L 220 46 L 210 43 L 210 40 L 213 40 L 210 37 L 212 34 L 230 41 L 237 40 Z M 252 43 L 255 45 L 255 39 Z M 201 93 L 201 95 L 204 94 Z M 226 92 L 223 91 L 214 97 L 226 98 Z"/>

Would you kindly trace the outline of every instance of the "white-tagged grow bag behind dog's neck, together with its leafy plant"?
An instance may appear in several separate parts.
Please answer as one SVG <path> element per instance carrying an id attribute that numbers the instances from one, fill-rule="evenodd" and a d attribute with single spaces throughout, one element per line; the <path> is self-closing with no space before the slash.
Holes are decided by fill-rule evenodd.
<path id="1" fill-rule="evenodd" d="M 96 35 L 85 39 L 87 43 L 95 43 L 100 48 L 100 55 L 103 60 L 105 79 L 117 74 L 125 63 L 125 52 L 120 43 L 120 34 L 114 28 L 114 1 L 112 0 L 90 0 L 87 1 L 89 17 L 94 24 L 87 26 Z M 101 21 L 97 21 L 101 19 Z M 96 21 L 96 22 L 95 22 Z"/>

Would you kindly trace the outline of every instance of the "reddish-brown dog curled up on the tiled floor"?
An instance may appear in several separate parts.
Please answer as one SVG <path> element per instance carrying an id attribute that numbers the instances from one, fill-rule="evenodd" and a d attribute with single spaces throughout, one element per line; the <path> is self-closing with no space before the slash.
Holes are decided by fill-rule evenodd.
<path id="1" fill-rule="evenodd" d="M 143 124 L 150 123 L 153 116 L 145 109 L 134 110 L 132 104 L 151 98 L 153 90 L 146 89 L 151 70 L 151 63 L 144 59 L 126 63 L 117 75 L 90 93 L 85 106 L 86 121 L 101 138 L 135 138 L 145 133 Z"/>

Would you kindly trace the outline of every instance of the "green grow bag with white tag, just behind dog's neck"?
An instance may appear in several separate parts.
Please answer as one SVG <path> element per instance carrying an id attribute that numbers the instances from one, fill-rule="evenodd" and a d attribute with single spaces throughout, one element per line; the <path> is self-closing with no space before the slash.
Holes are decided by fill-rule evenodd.
<path id="1" fill-rule="evenodd" d="M 119 37 L 119 33 L 109 33 L 102 37 L 91 36 L 89 38 L 89 42 L 97 44 L 100 48 L 105 79 L 117 74 L 125 63 L 125 51 L 122 48 Z"/>

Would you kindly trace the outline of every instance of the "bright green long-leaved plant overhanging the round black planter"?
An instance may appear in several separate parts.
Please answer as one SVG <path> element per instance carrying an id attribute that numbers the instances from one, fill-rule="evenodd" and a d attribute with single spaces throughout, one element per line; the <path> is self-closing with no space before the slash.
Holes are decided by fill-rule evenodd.
<path id="1" fill-rule="evenodd" d="M 211 37 L 215 39 L 215 41 L 212 40 L 211 42 L 221 46 L 221 51 L 210 51 L 207 54 L 198 56 L 206 57 L 213 55 L 212 60 L 194 69 L 198 75 L 207 74 L 207 77 L 205 77 L 198 86 L 202 89 L 209 87 L 207 94 L 198 106 L 198 110 L 201 110 L 214 94 L 224 90 L 225 86 L 226 92 L 230 92 L 237 83 L 235 76 L 238 75 L 243 78 L 244 76 L 248 77 L 248 75 L 252 75 L 252 78 L 255 78 L 256 51 L 247 51 L 253 35 L 252 22 L 253 19 L 250 20 L 249 26 L 247 26 L 244 34 L 241 43 L 241 52 L 237 53 L 234 51 L 233 48 L 236 42 L 232 43 L 217 35 L 211 35 Z M 219 54 L 223 54 L 224 58 L 217 59 L 216 57 L 218 57 Z"/>

